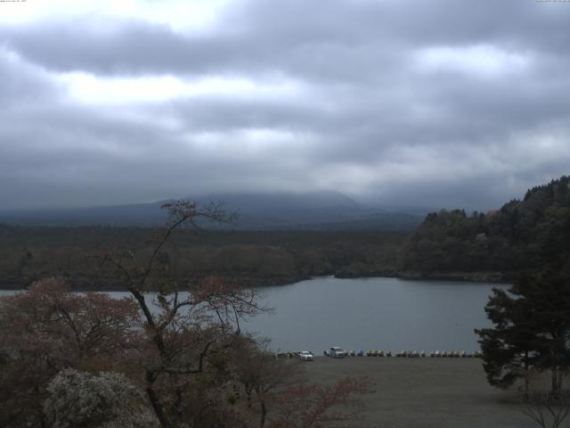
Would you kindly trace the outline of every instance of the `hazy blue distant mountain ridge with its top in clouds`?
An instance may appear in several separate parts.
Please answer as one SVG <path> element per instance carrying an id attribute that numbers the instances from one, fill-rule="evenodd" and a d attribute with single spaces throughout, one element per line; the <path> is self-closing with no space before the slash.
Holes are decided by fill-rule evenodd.
<path id="1" fill-rule="evenodd" d="M 413 229 L 422 216 L 362 206 L 344 193 L 208 193 L 184 198 L 199 204 L 223 202 L 239 220 L 224 228 L 241 230 Z M 171 200 L 92 208 L 0 211 L 0 222 L 20 226 L 159 226 L 160 207 Z M 219 226 L 216 226 L 219 227 Z"/>

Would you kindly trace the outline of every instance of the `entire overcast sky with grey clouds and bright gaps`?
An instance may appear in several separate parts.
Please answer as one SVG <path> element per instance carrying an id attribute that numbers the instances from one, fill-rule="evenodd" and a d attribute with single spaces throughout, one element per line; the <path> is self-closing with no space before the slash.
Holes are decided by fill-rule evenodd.
<path id="1" fill-rule="evenodd" d="M 570 174 L 570 3 L 0 2 L 0 208 L 335 189 L 486 210 Z"/>

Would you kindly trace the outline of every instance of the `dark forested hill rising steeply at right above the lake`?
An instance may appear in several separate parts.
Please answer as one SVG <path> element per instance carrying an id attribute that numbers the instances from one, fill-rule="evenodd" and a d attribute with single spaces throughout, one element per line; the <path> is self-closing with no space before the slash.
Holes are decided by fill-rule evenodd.
<path id="1" fill-rule="evenodd" d="M 423 276 L 482 273 L 509 279 L 526 269 L 567 265 L 569 177 L 528 190 L 522 201 L 487 213 L 429 214 L 403 249 L 403 271 Z"/>

